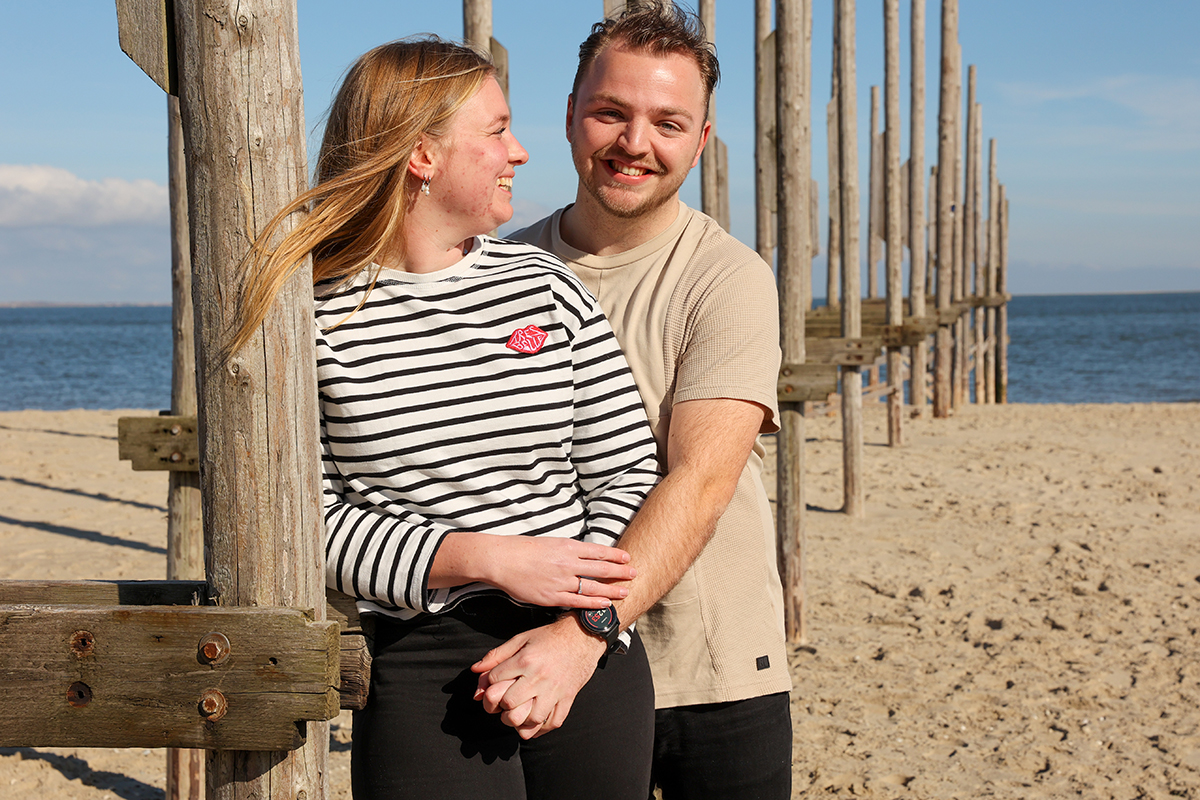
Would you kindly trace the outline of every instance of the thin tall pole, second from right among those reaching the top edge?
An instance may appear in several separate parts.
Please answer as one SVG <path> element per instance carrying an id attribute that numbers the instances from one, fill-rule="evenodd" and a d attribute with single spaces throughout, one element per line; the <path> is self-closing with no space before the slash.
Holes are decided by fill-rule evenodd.
<path id="1" fill-rule="evenodd" d="M 908 120 L 908 313 L 925 317 L 925 270 L 929 265 L 925 239 L 925 0 L 912 0 L 912 80 Z M 929 347 L 925 339 L 911 348 L 908 377 L 911 402 L 918 414 L 925 413 L 925 373 L 929 371 Z"/>

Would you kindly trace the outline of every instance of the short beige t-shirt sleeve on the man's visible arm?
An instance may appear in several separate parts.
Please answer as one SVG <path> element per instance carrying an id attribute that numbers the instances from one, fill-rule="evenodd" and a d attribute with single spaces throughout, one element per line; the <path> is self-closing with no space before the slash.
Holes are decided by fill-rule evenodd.
<path id="1" fill-rule="evenodd" d="M 694 255 L 703 271 L 683 295 L 686 307 L 673 309 L 676 319 L 667 321 L 680 337 L 674 402 L 757 403 L 766 409 L 760 433 L 774 433 L 781 357 L 775 278 L 757 255 L 737 249 L 700 247 Z"/>

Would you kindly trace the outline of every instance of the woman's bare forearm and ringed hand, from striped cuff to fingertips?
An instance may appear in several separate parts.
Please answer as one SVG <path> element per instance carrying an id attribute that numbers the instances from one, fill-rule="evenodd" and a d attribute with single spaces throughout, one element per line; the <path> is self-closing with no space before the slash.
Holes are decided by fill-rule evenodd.
<path id="1" fill-rule="evenodd" d="M 433 559 L 428 587 L 479 581 L 523 603 L 607 608 L 629 594 L 614 583 L 636 575 L 629 553 L 605 545 L 548 536 L 450 534 Z"/>

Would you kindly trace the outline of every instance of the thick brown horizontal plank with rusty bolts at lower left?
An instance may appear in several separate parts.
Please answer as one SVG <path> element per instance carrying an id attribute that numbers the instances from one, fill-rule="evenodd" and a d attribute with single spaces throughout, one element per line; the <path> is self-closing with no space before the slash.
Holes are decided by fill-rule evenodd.
<path id="1" fill-rule="evenodd" d="M 289 608 L 2 606 L 0 746 L 295 750 L 337 715 L 337 639 Z"/>

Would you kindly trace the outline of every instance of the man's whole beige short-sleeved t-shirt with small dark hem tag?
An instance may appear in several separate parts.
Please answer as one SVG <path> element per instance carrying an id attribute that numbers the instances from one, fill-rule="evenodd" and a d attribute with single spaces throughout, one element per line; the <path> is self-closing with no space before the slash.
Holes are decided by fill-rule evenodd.
<path id="1" fill-rule="evenodd" d="M 674 403 L 750 401 L 768 409 L 760 432 L 779 429 L 778 295 L 770 267 L 754 251 L 683 203 L 667 230 L 617 255 L 566 245 L 560 216 L 514 237 L 562 258 L 600 300 L 634 372 L 664 470 Z M 755 443 L 712 540 L 637 622 L 658 708 L 791 691 L 762 456 Z"/>

